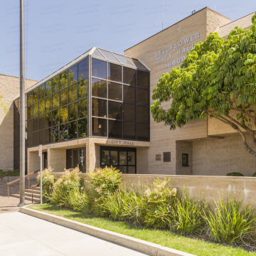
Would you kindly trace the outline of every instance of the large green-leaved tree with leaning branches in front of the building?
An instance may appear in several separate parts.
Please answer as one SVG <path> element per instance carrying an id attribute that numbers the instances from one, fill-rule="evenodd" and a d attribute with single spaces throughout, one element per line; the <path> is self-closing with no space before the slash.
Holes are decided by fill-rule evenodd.
<path id="1" fill-rule="evenodd" d="M 170 129 L 191 120 L 213 117 L 235 129 L 248 146 L 244 130 L 256 148 L 256 13 L 252 27 L 235 27 L 227 41 L 210 33 L 204 42 L 188 52 L 181 67 L 161 76 L 153 90 L 151 114 L 156 122 Z M 169 102 L 168 110 L 161 103 Z"/>

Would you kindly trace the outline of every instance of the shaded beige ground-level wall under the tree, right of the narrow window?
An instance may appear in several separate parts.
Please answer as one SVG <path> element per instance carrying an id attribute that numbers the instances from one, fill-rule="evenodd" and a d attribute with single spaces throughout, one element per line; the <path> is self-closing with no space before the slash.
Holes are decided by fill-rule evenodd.
<path id="1" fill-rule="evenodd" d="M 246 134 L 247 143 L 255 149 L 252 137 Z M 245 151 L 242 137 L 236 135 L 224 139 L 200 139 L 193 141 L 193 175 L 226 175 L 239 171 L 245 176 L 256 172 L 256 159 Z"/>

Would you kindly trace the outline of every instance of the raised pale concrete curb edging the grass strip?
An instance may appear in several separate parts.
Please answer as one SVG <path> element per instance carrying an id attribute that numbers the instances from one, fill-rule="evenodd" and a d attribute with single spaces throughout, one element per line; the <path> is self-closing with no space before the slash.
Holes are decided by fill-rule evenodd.
<path id="1" fill-rule="evenodd" d="M 102 228 L 96 228 L 91 225 L 79 223 L 78 221 L 68 220 L 67 218 L 62 218 L 49 213 L 43 213 L 38 210 L 32 210 L 26 208 L 26 206 L 19 209 L 21 213 L 26 213 L 36 218 L 41 218 L 42 220 L 47 220 L 51 223 L 62 225 L 66 228 L 71 228 L 88 235 L 93 235 L 96 238 L 101 238 L 109 242 L 114 242 L 117 245 L 122 245 L 128 247 L 132 250 L 137 250 L 151 256 L 196 256 L 191 255 L 187 252 L 181 252 L 179 250 L 174 250 L 169 247 L 164 247 L 157 245 L 153 242 L 146 242 L 138 238 L 132 238 L 129 235 L 122 235 L 109 230 L 104 230 Z"/>

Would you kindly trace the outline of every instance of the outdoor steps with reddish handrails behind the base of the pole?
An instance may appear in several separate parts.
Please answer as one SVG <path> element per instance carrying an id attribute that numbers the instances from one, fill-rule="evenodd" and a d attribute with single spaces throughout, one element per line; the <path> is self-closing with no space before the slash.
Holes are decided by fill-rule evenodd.
<path id="1" fill-rule="evenodd" d="M 9 177 L 9 182 L 14 181 L 16 179 L 13 177 Z M 8 188 L 7 188 L 7 179 L 3 178 L 3 181 L 0 180 L 0 196 L 7 196 L 8 195 Z M 32 189 L 31 186 L 37 184 L 35 179 L 31 179 L 29 182 L 30 188 L 28 188 L 28 180 L 26 179 L 25 183 L 25 199 L 32 202 Z M 11 184 L 9 186 L 9 196 L 13 196 L 16 198 L 20 198 L 20 190 L 19 190 L 19 181 Z M 40 202 L 40 188 L 33 188 L 33 203 Z"/>

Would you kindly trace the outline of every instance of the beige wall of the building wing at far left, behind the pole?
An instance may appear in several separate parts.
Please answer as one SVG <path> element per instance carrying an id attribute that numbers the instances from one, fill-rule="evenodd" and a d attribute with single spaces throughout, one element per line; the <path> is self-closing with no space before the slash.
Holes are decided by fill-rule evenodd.
<path id="1" fill-rule="evenodd" d="M 26 80 L 26 89 L 34 85 L 36 81 Z M 14 167 L 14 98 L 19 95 L 20 80 L 11 75 L 0 74 L 0 94 L 9 108 L 9 114 L 6 116 L 0 109 L 0 169 L 9 169 Z"/>

